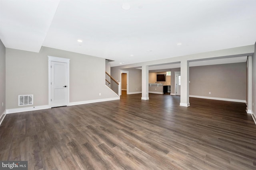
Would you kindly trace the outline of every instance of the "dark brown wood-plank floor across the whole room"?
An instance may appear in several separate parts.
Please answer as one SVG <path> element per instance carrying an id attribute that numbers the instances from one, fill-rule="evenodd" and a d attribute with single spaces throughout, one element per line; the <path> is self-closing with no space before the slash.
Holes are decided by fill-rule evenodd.
<path id="1" fill-rule="evenodd" d="M 6 115 L 0 160 L 28 169 L 256 169 L 256 125 L 246 105 L 123 94 L 120 100 Z"/>

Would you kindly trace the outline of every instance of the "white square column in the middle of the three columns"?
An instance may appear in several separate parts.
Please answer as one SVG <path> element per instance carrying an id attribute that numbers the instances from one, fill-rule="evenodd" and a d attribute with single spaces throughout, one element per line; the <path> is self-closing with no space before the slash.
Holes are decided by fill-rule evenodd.
<path id="1" fill-rule="evenodd" d="M 187 60 L 180 62 L 180 106 L 189 104 L 189 63 Z"/>

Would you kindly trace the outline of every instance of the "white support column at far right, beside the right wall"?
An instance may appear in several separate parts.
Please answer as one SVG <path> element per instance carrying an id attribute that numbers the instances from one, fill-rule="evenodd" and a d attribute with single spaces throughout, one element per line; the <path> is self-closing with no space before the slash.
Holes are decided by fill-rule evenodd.
<path id="1" fill-rule="evenodd" d="M 247 57 L 247 66 L 248 66 L 248 94 L 247 94 L 247 113 L 252 113 L 252 56 Z"/>

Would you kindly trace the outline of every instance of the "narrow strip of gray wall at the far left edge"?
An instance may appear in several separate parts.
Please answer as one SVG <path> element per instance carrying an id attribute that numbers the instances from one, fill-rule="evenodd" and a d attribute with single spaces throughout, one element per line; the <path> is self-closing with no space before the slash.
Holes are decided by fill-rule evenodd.
<path id="1" fill-rule="evenodd" d="M 0 40 L 0 117 L 5 111 L 6 103 L 5 103 L 5 47 L 2 41 Z M 2 106 L 2 102 L 4 106 Z"/>

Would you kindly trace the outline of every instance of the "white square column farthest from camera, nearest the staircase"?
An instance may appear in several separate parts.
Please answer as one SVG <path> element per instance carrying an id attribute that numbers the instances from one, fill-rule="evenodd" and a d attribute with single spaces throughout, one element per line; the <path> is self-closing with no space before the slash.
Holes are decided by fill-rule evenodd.
<path id="1" fill-rule="evenodd" d="M 142 66 L 142 94 L 141 100 L 149 100 L 148 97 L 148 66 Z"/>

